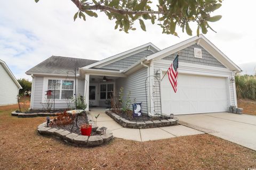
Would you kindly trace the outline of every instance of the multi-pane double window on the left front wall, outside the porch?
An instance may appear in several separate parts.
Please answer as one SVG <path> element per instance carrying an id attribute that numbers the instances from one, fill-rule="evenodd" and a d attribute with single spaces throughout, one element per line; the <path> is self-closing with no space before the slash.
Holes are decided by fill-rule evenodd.
<path id="1" fill-rule="evenodd" d="M 74 95 L 74 81 L 73 80 L 48 80 L 47 90 L 51 90 L 51 96 L 47 99 L 70 99 Z"/>

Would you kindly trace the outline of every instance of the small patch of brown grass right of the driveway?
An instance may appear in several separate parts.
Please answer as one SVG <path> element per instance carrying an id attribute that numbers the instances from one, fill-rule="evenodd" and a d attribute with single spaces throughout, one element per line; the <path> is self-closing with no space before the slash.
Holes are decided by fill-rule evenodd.
<path id="1" fill-rule="evenodd" d="M 256 101 L 249 99 L 238 99 L 237 105 L 238 107 L 244 109 L 244 114 L 256 115 Z"/>

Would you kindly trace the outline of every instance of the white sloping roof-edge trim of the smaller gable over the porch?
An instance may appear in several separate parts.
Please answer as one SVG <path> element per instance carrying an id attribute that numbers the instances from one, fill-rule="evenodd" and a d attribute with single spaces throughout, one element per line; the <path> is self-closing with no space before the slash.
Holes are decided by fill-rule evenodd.
<path id="1" fill-rule="evenodd" d="M 134 54 L 138 54 L 138 53 L 143 52 L 145 50 L 150 50 L 151 52 L 156 53 L 160 49 L 158 47 L 156 47 L 152 43 L 147 43 L 145 45 L 142 45 L 142 46 L 139 46 L 139 47 L 127 50 L 126 52 L 119 53 L 117 55 L 108 57 L 108 58 L 106 58 L 104 60 L 101 60 L 101 61 L 99 61 L 97 63 L 93 63 L 91 65 L 84 66 L 83 69 L 90 69 L 92 67 L 103 68 L 103 66 L 109 65 L 109 64 L 114 63 L 114 62 L 119 61 L 119 60 L 122 60 L 123 58 L 132 56 Z"/>

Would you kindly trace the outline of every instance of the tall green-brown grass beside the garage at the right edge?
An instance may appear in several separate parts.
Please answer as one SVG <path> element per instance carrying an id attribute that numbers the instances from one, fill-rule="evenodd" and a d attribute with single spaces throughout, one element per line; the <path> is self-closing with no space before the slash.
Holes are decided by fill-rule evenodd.
<path id="1" fill-rule="evenodd" d="M 237 98 L 256 100 L 256 77 L 252 75 L 236 75 Z"/>

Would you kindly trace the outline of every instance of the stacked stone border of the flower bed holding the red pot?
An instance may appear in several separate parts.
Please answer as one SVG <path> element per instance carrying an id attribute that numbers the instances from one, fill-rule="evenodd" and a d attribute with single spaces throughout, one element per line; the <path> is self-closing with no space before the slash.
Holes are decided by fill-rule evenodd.
<path id="1" fill-rule="evenodd" d="M 93 131 L 96 131 L 99 135 L 87 137 L 85 135 L 78 135 L 76 133 L 72 133 L 63 129 L 47 128 L 46 122 L 38 125 L 37 131 L 39 134 L 51 135 L 65 141 L 66 143 L 81 147 L 100 146 L 108 143 L 110 140 L 113 139 L 113 133 L 110 130 L 107 130 L 106 134 L 101 135 L 99 128 L 93 124 L 91 115 L 87 115 L 87 118 L 89 122 L 92 123 Z"/>

